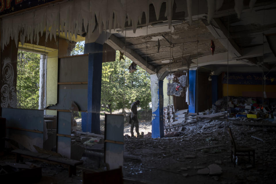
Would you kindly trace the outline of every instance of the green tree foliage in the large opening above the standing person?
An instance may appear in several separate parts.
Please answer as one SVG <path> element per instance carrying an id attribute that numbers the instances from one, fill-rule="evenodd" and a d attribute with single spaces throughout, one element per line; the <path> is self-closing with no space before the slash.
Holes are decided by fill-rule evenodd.
<path id="1" fill-rule="evenodd" d="M 148 109 L 151 102 L 150 75 L 137 66 L 137 70 L 129 73 L 132 61 L 125 57 L 119 61 L 116 52 L 114 62 L 103 63 L 101 85 L 101 110 L 110 113 L 118 109 L 129 109 L 132 102 L 140 100 L 142 109 Z"/>

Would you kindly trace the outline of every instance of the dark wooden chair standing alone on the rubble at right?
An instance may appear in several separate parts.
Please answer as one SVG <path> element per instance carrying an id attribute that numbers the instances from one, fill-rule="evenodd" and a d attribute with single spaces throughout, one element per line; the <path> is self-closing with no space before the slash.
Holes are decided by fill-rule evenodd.
<path id="1" fill-rule="evenodd" d="M 236 166 L 236 162 L 235 162 L 236 156 L 248 156 L 249 163 L 250 163 L 251 155 L 253 156 L 253 166 L 255 166 L 255 150 L 249 146 L 236 145 L 230 127 L 228 127 L 228 132 L 231 139 L 231 162 L 233 160 L 233 153 L 234 153 L 234 167 Z M 252 152 L 253 154 L 250 154 L 250 152 Z M 243 154 L 243 153 L 247 153 L 247 154 Z"/>

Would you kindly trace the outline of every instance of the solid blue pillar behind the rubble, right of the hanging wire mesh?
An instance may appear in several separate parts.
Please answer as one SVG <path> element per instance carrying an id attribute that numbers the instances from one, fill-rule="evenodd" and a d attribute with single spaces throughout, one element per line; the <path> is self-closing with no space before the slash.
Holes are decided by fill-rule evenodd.
<path id="1" fill-rule="evenodd" d="M 196 70 L 189 70 L 189 112 L 196 113 Z"/>

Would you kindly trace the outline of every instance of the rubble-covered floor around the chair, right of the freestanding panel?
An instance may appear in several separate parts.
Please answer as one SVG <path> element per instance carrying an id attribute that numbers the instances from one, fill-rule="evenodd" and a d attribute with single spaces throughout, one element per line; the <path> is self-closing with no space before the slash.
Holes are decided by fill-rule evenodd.
<path id="1" fill-rule="evenodd" d="M 217 122 L 197 125 L 179 137 L 125 138 L 124 176 L 153 183 L 275 183 L 276 129 Z M 252 157 L 251 163 L 238 157 L 234 168 L 228 125 L 238 145 L 255 149 L 255 167 Z"/>

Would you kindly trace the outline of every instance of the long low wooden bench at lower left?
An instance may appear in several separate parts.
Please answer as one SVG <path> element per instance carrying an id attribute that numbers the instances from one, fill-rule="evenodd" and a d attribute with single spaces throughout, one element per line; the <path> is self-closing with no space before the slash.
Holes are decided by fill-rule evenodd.
<path id="1" fill-rule="evenodd" d="M 27 150 L 13 150 L 11 152 L 16 154 L 16 163 L 18 163 L 19 160 L 23 162 L 23 158 L 29 158 L 33 160 L 39 160 L 42 162 L 48 162 L 51 164 L 60 164 L 64 167 L 67 167 L 69 171 L 69 177 L 72 177 L 72 174 L 76 175 L 77 165 L 83 164 L 83 161 L 72 160 L 48 154 L 41 154 L 37 152 L 30 152 Z"/>

